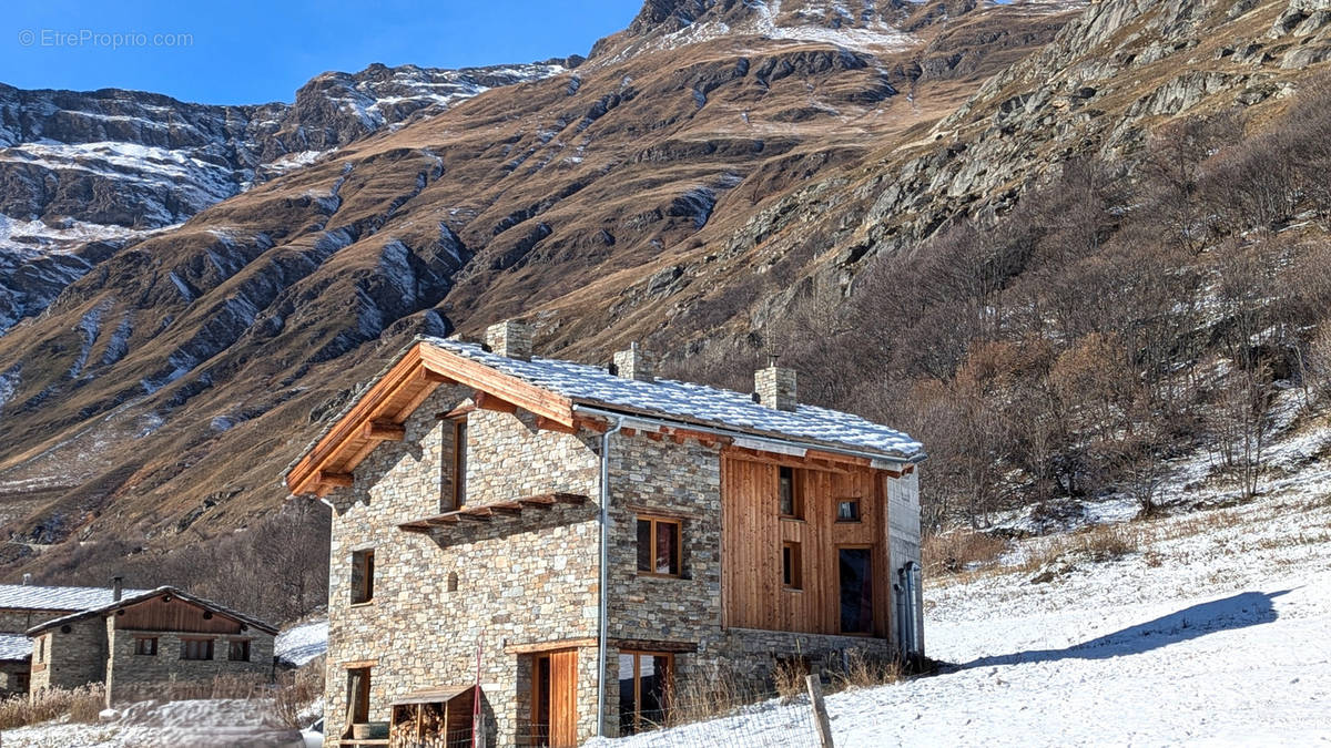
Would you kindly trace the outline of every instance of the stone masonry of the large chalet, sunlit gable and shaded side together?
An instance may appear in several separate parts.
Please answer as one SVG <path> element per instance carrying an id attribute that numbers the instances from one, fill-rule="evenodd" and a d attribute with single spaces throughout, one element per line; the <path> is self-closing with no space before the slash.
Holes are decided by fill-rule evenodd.
<path id="1" fill-rule="evenodd" d="M 338 488 L 329 575 L 326 736 L 337 744 L 347 711 L 347 667 L 370 667 L 370 721 L 390 719 L 411 691 L 476 680 L 491 745 L 526 744 L 531 651 L 578 648 L 579 740 L 596 733 L 600 435 L 538 430 L 534 418 L 490 410 L 469 415 L 465 506 L 544 492 L 583 504 L 459 522 L 426 534 L 402 522 L 439 514 L 451 486 L 451 425 L 438 414 L 470 403 L 471 390 L 439 386 Z M 608 463 L 608 631 L 606 727 L 618 719 L 619 643 L 679 644 L 676 681 L 721 672 L 769 677 L 779 657 L 829 663 L 851 648 L 889 654 L 888 639 L 721 627 L 721 455 L 696 439 L 611 437 Z M 914 491 L 913 478 L 906 487 Z M 681 578 L 636 572 L 636 518 L 677 518 Z M 886 540 L 886 539 L 884 539 Z M 350 603 L 351 559 L 374 550 L 374 599 Z M 450 590 L 455 576 L 457 588 Z M 572 644 L 570 644 L 572 643 Z"/>

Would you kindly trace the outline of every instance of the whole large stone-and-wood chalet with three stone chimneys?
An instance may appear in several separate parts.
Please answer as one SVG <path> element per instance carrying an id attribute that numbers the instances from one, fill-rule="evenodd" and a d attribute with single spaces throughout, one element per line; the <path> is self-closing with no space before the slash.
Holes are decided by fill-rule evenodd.
<path id="1" fill-rule="evenodd" d="M 921 445 L 788 369 L 755 389 L 536 358 L 515 322 L 411 345 L 286 475 L 333 507 L 326 745 L 473 713 L 487 745 L 576 745 L 719 675 L 922 655 Z"/>

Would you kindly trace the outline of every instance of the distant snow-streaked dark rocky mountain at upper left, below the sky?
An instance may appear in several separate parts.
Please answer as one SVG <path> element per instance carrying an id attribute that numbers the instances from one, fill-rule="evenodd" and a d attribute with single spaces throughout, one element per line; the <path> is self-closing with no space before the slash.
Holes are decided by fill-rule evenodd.
<path id="1" fill-rule="evenodd" d="M 136 91 L 0 84 L 0 334 L 109 250 L 411 117 L 578 59 L 322 73 L 295 102 L 189 104 Z M 105 242 L 89 252 L 88 242 Z"/>

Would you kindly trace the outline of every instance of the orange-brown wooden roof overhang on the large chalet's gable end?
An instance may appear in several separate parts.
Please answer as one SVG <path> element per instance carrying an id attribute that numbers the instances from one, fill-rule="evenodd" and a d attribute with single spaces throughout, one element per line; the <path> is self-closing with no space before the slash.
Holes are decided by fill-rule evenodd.
<path id="1" fill-rule="evenodd" d="M 413 345 L 325 431 L 286 474 L 293 494 L 327 495 L 350 486 L 355 466 L 383 441 L 401 441 L 403 422 L 443 383 L 483 393 L 484 407 L 522 409 L 542 427 L 575 430 L 572 402 L 548 390 L 496 371 L 484 363 L 423 342 Z"/>

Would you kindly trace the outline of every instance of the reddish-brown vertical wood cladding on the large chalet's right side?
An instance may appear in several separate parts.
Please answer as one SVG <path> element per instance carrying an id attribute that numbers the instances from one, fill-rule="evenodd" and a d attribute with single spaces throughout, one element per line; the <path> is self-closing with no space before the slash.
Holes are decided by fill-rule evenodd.
<path id="1" fill-rule="evenodd" d="M 877 471 L 796 472 L 804 518 L 779 516 L 779 466 L 728 451 L 721 462 L 721 598 L 727 627 L 840 634 L 839 547 L 873 550 L 873 630 L 889 628 L 885 503 Z M 858 499 L 860 522 L 836 522 L 840 499 Z M 787 590 L 781 544 L 800 543 L 803 590 Z"/>

